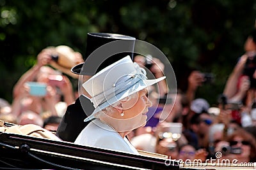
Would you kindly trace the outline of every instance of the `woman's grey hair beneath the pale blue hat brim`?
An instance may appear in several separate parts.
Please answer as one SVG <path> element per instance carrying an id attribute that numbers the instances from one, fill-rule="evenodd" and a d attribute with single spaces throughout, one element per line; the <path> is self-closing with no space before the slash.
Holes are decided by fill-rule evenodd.
<path id="1" fill-rule="evenodd" d="M 131 94 L 125 97 L 124 99 L 121 99 L 120 101 L 117 101 L 116 103 L 113 103 L 109 105 L 107 108 L 104 108 L 103 110 L 99 111 L 95 114 L 95 118 L 99 118 L 102 115 L 111 115 L 115 108 L 121 108 L 122 103 L 130 101 L 131 99 L 135 99 L 136 97 L 138 97 L 138 92 Z"/>

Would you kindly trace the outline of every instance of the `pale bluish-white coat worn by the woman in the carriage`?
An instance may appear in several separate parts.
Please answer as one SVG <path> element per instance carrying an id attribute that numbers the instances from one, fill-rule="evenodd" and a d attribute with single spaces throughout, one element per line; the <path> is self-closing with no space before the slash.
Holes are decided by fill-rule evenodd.
<path id="1" fill-rule="evenodd" d="M 128 139 L 122 138 L 118 132 L 109 125 L 100 122 L 99 119 L 90 122 L 90 124 L 81 131 L 79 136 L 77 136 L 75 143 L 139 154 Z"/>

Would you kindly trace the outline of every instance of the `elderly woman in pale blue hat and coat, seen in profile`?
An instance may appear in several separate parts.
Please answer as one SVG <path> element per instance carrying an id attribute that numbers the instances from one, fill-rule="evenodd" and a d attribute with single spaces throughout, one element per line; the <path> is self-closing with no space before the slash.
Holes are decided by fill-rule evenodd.
<path id="1" fill-rule="evenodd" d="M 152 105 L 147 87 L 164 78 L 147 80 L 145 70 L 129 56 L 92 76 L 83 83 L 95 108 L 84 121 L 92 122 L 75 143 L 138 154 L 125 136 L 146 124 L 148 107 Z"/>

